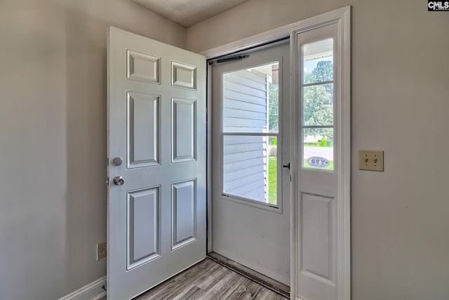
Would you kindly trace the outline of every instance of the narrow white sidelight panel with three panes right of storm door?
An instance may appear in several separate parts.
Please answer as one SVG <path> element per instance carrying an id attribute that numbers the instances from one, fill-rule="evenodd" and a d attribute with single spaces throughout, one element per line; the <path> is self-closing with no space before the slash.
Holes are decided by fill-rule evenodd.
<path id="1" fill-rule="evenodd" d="M 297 171 L 297 290 L 305 300 L 337 299 L 337 174 L 340 103 L 336 25 L 297 35 L 300 155 Z M 317 143 L 316 145 L 313 145 Z"/>

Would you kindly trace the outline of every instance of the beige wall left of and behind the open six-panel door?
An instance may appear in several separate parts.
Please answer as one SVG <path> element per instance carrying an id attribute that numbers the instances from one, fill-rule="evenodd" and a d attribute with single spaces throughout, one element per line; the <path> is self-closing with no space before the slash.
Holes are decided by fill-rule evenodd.
<path id="1" fill-rule="evenodd" d="M 106 275 L 107 25 L 185 48 L 130 0 L 0 1 L 0 299 L 58 299 Z"/>

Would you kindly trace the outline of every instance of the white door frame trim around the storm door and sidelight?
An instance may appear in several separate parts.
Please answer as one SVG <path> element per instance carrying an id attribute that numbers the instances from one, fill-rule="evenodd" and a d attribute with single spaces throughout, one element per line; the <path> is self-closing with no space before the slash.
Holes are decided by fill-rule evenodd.
<path id="1" fill-rule="evenodd" d="M 297 77 L 299 76 L 297 66 L 298 48 L 297 48 L 297 34 L 314 28 L 322 27 L 329 24 L 337 24 L 337 39 L 339 39 L 339 44 L 337 46 L 340 48 L 340 65 L 338 66 L 338 71 L 340 72 L 341 89 L 340 95 L 335 96 L 335 100 L 339 100 L 340 110 L 337 112 L 339 117 L 337 118 L 336 128 L 340 129 L 340 148 L 336 149 L 335 155 L 340 161 L 340 168 L 337 171 L 337 199 L 340 201 L 337 203 L 337 299 L 338 300 L 349 300 L 351 299 L 351 206 L 350 206 L 350 183 L 351 183 L 351 7 L 346 6 L 344 8 L 339 8 L 335 11 L 330 11 L 329 13 L 323 13 L 322 15 L 317 15 L 307 20 L 302 20 L 300 22 L 295 22 L 290 25 L 276 28 L 274 30 L 269 30 L 267 32 L 262 32 L 260 34 L 255 34 L 252 37 L 247 37 L 245 39 L 240 39 L 239 41 L 233 41 L 232 43 L 225 44 L 223 46 L 218 46 L 216 48 L 203 51 L 200 54 L 206 56 L 207 59 L 216 58 L 218 56 L 224 56 L 229 53 L 236 51 L 241 51 L 246 48 L 257 46 L 270 41 L 276 41 L 277 39 L 282 39 L 290 36 L 290 74 L 291 83 L 290 84 L 290 105 L 291 107 L 291 124 L 295 124 L 297 116 L 295 113 L 297 111 L 296 99 L 300 95 L 300 90 L 298 89 Z M 211 67 L 208 66 L 208 74 L 211 72 Z M 210 166 L 212 163 L 211 152 L 212 145 L 211 141 L 211 116 L 212 116 L 212 97 L 210 93 L 211 79 L 208 77 L 208 252 L 212 249 L 212 221 L 211 221 L 211 197 L 210 192 L 212 185 L 210 181 L 210 176 L 212 172 L 210 171 Z M 295 147 L 297 147 L 297 137 L 300 136 L 296 126 L 292 125 L 292 143 L 291 143 L 291 155 L 292 155 L 292 165 L 297 166 L 300 161 L 299 155 L 295 153 Z M 290 174 L 292 176 L 292 182 L 296 182 L 297 174 L 296 167 L 292 167 Z M 297 261 L 301 258 L 297 255 L 297 231 L 298 231 L 298 220 L 296 216 L 296 199 L 299 193 L 295 184 L 291 185 L 290 193 L 290 299 L 299 299 L 296 297 L 297 292 Z"/>

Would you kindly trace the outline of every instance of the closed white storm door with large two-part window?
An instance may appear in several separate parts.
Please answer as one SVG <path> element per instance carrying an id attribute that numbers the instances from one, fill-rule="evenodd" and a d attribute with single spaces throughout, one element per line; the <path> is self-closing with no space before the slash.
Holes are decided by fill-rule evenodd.
<path id="1" fill-rule="evenodd" d="M 290 285 L 289 44 L 213 65 L 212 250 Z"/>

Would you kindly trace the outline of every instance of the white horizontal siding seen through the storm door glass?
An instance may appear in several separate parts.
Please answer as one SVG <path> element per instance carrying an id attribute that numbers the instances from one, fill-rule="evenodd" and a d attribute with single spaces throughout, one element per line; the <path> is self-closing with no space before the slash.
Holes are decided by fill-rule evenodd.
<path id="1" fill-rule="evenodd" d="M 267 132 L 267 75 L 223 74 L 223 133 Z M 267 136 L 223 137 L 223 192 L 265 202 Z"/>

